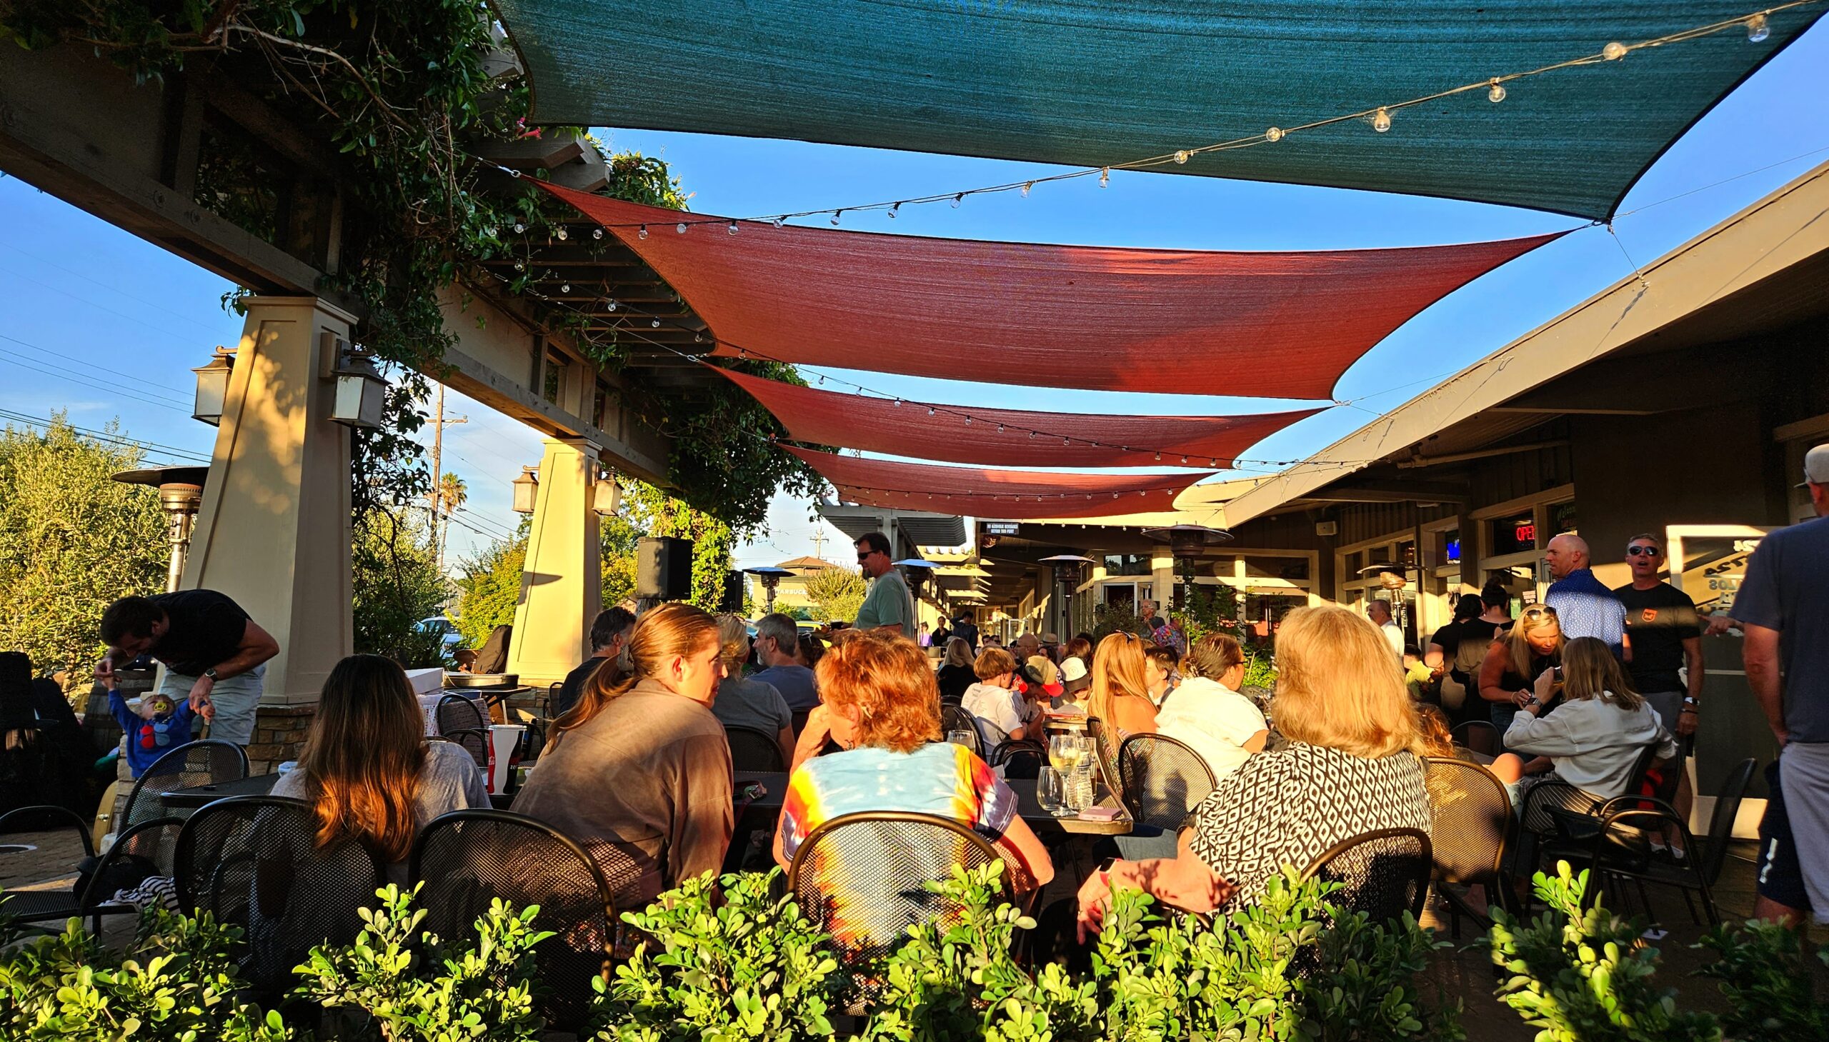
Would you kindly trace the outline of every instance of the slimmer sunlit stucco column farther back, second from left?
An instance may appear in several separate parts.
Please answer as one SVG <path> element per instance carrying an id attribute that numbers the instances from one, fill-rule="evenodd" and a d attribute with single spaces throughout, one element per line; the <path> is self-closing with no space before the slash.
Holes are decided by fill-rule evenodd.
<path id="1" fill-rule="evenodd" d="M 545 444 L 508 642 L 508 673 L 532 686 L 565 680 L 591 654 L 591 620 L 604 607 L 604 548 L 591 510 L 598 450 L 582 439 Z"/>

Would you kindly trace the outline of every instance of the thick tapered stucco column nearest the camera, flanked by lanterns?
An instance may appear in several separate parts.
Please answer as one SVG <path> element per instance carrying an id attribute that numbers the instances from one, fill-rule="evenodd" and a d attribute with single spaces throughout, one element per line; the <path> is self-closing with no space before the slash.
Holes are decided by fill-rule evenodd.
<path id="1" fill-rule="evenodd" d="M 315 704 L 353 645 L 349 430 L 327 419 L 329 336 L 353 322 L 311 296 L 247 300 L 185 561 L 181 589 L 229 594 L 280 642 L 263 706 Z"/>

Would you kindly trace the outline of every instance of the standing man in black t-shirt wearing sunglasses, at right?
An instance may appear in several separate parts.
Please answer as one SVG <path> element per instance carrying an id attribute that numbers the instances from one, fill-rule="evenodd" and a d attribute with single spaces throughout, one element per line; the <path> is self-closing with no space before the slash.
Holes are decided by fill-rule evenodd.
<path id="1" fill-rule="evenodd" d="M 1664 729 L 1686 739 L 1695 733 L 1703 693 L 1703 625 L 1695 601 L 1657 578 L 1664 567 L 1663 539 L 1650 534 L 1626 541 L 1631 581 L 1613 590 L 1626 605 L 1631 684 L 1657 711 Z M 1688 680 L 1679 673 L 1688 667 Z"/>

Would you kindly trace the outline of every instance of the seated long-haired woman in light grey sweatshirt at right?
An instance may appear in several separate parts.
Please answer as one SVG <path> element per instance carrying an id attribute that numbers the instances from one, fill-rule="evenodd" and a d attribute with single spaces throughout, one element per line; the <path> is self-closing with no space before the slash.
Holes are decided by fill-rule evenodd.
<path id="1" fill-rule="evenodd" d="M 1556 671 L 1542 671 L 1505 731 L 1507 750 L 1536 755 L 1524 770 L 1540 777 L 1527 779 L 1525 790 L 1533 781 L 1556 779 L 1595 799 L 1611 799 L 1626 792 L 1646 746 L 1657 746 L 1659 760 L 1677 755 L 1677 740 L 1631 689 L 1604 642 L 1571 640 L 1562 649 L 1562 706 L 1549 713 Z"/>

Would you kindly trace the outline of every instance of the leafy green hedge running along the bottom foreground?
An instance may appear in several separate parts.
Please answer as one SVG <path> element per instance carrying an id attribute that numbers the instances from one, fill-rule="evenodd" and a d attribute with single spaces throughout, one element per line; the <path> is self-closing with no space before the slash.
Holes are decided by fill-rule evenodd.
<path id="1" fill-rule="evenodd" d="M 966 909 L 958 923 L 914 927 L 882 962 L 840 967 L 827 936 L 792 899 L 772 896 L 779 872 L 688 881 L 624 918 L 649 940 L 598 982 L 593 1042 L 739 1040 L 1328 1040 L 1463 1038 L 1458 1002 L 1425 1000 L 1417 976 L 1436 949 L 1405 918 L 1372 923 L 1330 905 L 1330 887 L 1293 874 L 1264 899 L 1203 925 L 1165 920 L 1149 896 L 1114 896 L 1090 971 L 1026 967 L 1011 951 L 1035 923 L 999 901 L 1002 867 L 935 885 Z M 1655 987 L 1657 951 L 1642 923 L 1582 910 L 1586 877 L 1560 867 L 1536 877 L 1547 910 L 1529 923 L 1498 914 L 1483 943 L 1503 969 L 1500 998 L 1546 1042 L 1650 1038 L 1822 1038 L 1829 1013 L 1811 987 L 1803 941 L 1770 925 L 1712 932 L 1732 1013 L 1683 1013 Z M 318 949 L 298 967 L 296 1000 L 324 1007 L 331 1038 L 457 1042 L 534 1040 L 541 982 L 532 949 L 538 909 L 503 903 L 474 938 L 444 943 L 422 930 L 413 896 L 388 887 L 362 912 L 349 947 Z M 150 910 L 128 951 L 108 951 L 71 920 L 62 934 L 24 940 L 0 918 L 0 1038 L 102 1042 L 291 1042 L 311 1037 L 247 1000 L 230 952 L 232 927 Z M 1814 958 L 1829 956 L 1816 952 Z M 869 1016 L 838 1011 L 869 980 Z M 291 1009 L 291 1005 L 287 1005 Z"/>

